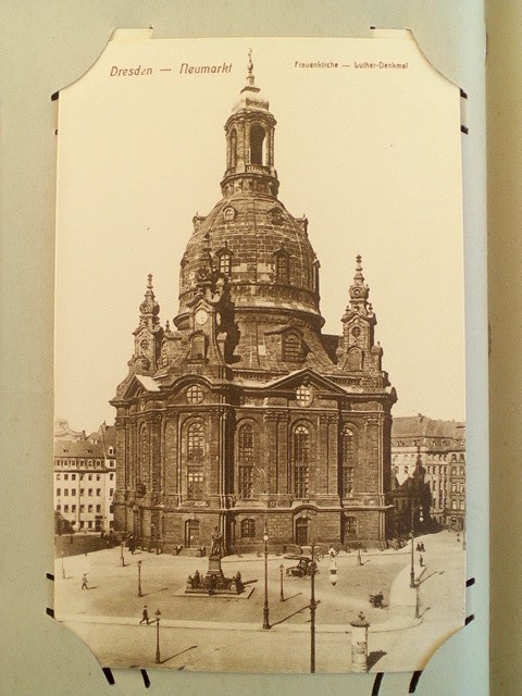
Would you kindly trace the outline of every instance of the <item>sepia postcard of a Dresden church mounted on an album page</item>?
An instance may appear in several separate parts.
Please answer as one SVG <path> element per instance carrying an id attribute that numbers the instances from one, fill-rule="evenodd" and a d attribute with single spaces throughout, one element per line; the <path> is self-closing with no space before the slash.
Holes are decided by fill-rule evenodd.
<path id="1" fill-rule="evenodd" d="M 461 96 L 393 35 L 116 36 L 60 91 L 54 616 L 103 667 L 464 625 Z"/>

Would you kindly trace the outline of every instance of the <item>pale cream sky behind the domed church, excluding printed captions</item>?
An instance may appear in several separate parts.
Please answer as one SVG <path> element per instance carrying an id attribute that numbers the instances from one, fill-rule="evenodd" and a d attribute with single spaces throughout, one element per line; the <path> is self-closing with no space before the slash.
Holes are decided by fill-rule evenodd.
<path id="1" fill-rule="evenodd" d="M 111 42 L 60 92 L 57 417 L 75 430 L 113 422 L 148 273 L 172 325 L 192 216 L 221 198 L 223 126 L 250 47 L 277 121 L 279 199 L 308 216 L 321 262 L 324 331 L 341 332 L 360 253 L 394 415 L 463 420 L 459 90 L 407 39 Z M 408 69 L 356 67 L 378 61 Z M 182 63 L 232 69 L 181 74 Z"/>

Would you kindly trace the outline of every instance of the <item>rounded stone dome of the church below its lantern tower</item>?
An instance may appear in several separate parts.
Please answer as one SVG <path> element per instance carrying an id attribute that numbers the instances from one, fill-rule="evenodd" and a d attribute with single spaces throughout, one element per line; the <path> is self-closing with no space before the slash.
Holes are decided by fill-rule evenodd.
<path id="1" fill-rule="evenodd" d="M 284 309 L 320 319 L 315 253 L 308 221 L 272 196 L 238 191 L 220 200 L 194 233 L 182 259 L 179 311 L 198 291 L 204 270 L 228 281 L 236 311 Z"/>

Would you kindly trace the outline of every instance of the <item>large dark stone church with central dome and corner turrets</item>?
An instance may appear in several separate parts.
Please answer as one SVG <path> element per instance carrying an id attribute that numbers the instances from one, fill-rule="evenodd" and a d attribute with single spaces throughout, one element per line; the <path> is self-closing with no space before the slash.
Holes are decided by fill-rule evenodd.
<path id="1" fill-rule="evenodd" d="M 339 336 L 322 333 L 308 220 L 277 198 L 276 121 L 253 76 L 225 124 L 222 198 L 196 215 L 179 310 L 149 275 L 116 408 L 114 529 L 164 550 L 313 542 L 382 547 L 393 529 L 391 406 L 357 257 Z M 203 153 L 201 153 L 203 157 Z"/>

